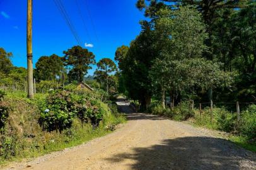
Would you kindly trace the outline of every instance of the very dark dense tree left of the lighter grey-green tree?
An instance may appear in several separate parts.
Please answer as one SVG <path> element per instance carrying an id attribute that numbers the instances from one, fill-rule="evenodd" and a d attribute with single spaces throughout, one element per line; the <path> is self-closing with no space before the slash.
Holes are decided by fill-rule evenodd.
<path id="1" fill-rule="evenodd" d="M 152 96 L 149 70 L 159 50 L 156 50 L 154 45 L 156 34 L 151 30 L 151 25 L 141 22 L 141 26 L 143 31 L 131 42 L 124 60 L 120 61 L 119 65 L 122 65 L 122 84 L 125 85 L 127 95 L 138 100 L 141 110 L 145 110 L 151 103 Z"/>

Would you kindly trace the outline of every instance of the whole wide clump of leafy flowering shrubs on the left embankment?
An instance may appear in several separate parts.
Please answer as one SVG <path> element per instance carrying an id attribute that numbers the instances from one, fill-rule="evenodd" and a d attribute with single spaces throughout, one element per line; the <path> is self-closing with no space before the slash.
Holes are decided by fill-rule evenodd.
<path id="1" fill-rule="evenodd" d="M 39 123 L 49 132 L 70 128 L 75 117 L 82 124 L 90 122 L 93 127 L 98 127 L 106 113 L 96 99 L 88 99 L 88 96 L 70 91 L 52 91 L 40 108 Z"/>

